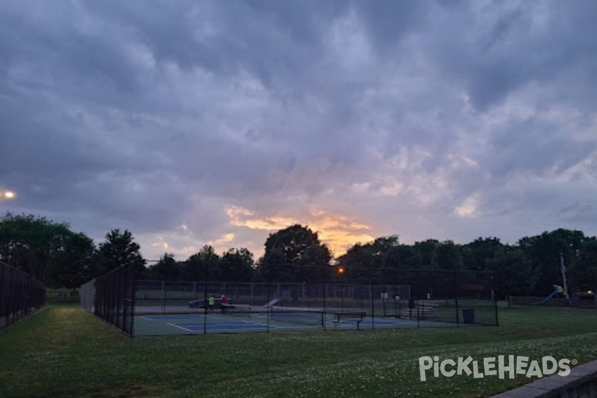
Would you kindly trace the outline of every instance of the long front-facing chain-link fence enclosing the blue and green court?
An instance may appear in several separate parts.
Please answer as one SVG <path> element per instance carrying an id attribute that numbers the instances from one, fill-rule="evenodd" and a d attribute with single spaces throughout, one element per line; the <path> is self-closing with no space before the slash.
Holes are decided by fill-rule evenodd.
<path id="1" fill-rule="evenodd" d="M 390 271 L 370 283 L 139 280 L 134 334 L 498 325 L 491 274 Z"/>

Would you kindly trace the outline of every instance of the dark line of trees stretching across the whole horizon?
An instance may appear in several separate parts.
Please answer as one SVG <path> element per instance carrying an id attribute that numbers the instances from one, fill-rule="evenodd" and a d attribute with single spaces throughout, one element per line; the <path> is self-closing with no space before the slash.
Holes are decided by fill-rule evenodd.
<path id="1" fill-rule="evenodd" d="M 66 223 L 10 212 L 0 218 L 0 260 L 50 287 L 74 288 L 124 265 L 135 267 L 139 279 L 306 283 L 367 283 L 389 277 L 387 271 L 437 269 L 491 271 L 497 294 L 505 297 L 549 294 L 552 285 L 562 285 L 564 264 L 570 291 L 597 288 L 597 238 L 576 230 L 525 236 L 515 244 L 479 237 L 466 244 L 427 239 L 407 245 L 398 235 L 384 236 L 334 259 L 316 232 L 296 224 L 270 234 L 264 246 L 257 260 L 247 248 L 217 254 L 205 245 L 184 261 L 170 253 L 147 261 L 128 230 L 111 230 L 96 246 Z"/>

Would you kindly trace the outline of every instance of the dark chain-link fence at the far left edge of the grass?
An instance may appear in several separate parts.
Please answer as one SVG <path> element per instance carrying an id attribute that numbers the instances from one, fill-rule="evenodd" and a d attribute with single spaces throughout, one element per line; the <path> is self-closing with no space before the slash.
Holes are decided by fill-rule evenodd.
<path id="1" fill-rule="evenodd" d="M 0 261 L 0 329 L 45 304 L 45 287 L 23 271 Z"/>

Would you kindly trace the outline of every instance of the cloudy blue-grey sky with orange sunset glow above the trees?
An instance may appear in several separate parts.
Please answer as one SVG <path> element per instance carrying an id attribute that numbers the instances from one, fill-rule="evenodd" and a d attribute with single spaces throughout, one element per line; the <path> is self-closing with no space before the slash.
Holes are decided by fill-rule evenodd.
<path id="1" fill-rule="evenodd" d="M 597 2 L 0 2 L 0 212 L 148 260 L 597 234 Z"/>

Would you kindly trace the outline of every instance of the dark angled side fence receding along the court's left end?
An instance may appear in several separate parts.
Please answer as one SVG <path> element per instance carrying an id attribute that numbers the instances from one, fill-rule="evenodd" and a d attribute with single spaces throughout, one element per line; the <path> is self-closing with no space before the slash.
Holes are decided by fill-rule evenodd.
<path id="1" fill-rule="evenodd" d="M 122 333 L 132 336 L 135 299 L 133 266 L 122 266 L 110 271 L 97 278 L 94 285 L 93 313 Z"/>

